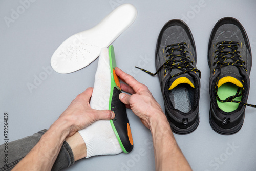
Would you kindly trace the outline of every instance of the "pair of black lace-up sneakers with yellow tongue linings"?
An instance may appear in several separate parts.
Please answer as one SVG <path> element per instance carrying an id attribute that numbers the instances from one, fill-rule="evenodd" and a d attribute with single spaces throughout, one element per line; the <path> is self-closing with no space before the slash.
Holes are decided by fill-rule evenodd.
<path id="1" fill-rule="evenodd" d="M 165 115 L 173 132 L 193 132 L 199 125 L 201 72 L 196 67 L 193 36 L 182 20 L 170 20 L 163 26 L 155 61 L 156 73 L 141 70 L 158 74 Z M 245 106 L 249 105 L 246 101 L 251 70 L 249 40 L 237 19 L 222 18 L 215 25 L 209 40 L 208 65 L 210 125 L 220 134 L 236 133 L 243 125 Z"/>

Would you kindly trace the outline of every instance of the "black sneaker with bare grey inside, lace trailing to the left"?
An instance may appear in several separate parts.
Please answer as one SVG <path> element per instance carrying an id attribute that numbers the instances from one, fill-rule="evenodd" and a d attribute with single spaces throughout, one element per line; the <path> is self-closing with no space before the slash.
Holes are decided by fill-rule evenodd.
<path id="1" fill-rule="evenodd" d="M 157 40 L 155 60 L 155 74 L 141 70 L 153 76 L 158 74 L 165 115 L 173 132 L 193 132 L 199 124 L 201 73 L 196 69 L 193 36 L 182 20 L 170 20 L 163 26 Z"/>

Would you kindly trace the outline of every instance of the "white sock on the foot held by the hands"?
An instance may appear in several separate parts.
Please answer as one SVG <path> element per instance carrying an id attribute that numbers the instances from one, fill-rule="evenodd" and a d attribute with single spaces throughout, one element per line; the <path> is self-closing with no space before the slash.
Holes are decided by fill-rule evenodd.
<path id="1" fill-rule="evenodd" d="M 90 106 L 93 109 L 109 109 L 111 87 L 110 61 L 108 48 L 101 49 L 98 68 L 95 74 Z M 115 155 L 122 152 L 121 146 L 109 120 L 98 120 L 78 131 L 86 143 L 86 158 L 96 155 Z"/>

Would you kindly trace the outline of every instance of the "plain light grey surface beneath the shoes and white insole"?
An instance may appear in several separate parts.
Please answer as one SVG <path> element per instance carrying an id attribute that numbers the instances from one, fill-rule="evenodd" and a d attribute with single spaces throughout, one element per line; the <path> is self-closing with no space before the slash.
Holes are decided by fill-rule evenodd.
<path id="1" fill-rule="evenodd" d="M 246 108 L 244 125 L 237 134 L 224 136 L 214 132 L 208 118 L 207 64 L 212 27 L 222 17 L 237 18 L 251 44 L 253 62 L 248 103 L 256 103 L 255 1 L 47 0 L 31 2 L 24 11 L 20 2 L 0 1 L 0 142 L 4 139 L 1 133 L 4 112 L 9 114 L 9 139 L 17 140 L 49 128 L 76 95 L 93 86 L 98 59 L 77 72 L 58 74 L 50 69 L 51 56 L 69 36 L 92 28 L 118 5 L 131 3 L 137 8 L 138 16 L 112 44 L 117 66 L 146 84 L 162 108 L 157 76 L 151 77 L 134 66 L 155 71 L 156 40 L 168 20 L 183 19 L 193 33 L 197 67 L 202 72 L 200 124 L 191 134 L 175 135 L 191 167 L 194 170 L 255 170 L 256 109 Z M 12 18 L 13 10 L 21 10 L 21 14 L 7 24 L 4 18 Z M 50 72 L 46 73 L 44 68 Z M 35 78 L 40 76 L 44 80 L 35 84 Z M 30 90 L 28 84 L 35 87 Z M 131 110 L 127 110 L 127 114 L 134 139 L 130 154 L 82 159 L 67 170 L 155 170 L 151 133 Z"/>

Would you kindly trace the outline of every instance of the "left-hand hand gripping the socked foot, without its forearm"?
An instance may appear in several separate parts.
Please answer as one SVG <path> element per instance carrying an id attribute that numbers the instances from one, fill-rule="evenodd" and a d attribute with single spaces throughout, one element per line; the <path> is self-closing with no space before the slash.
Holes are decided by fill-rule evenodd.
<path id="1" fill-rule="evenodd" d="M 68 106 L 68 108 L 60 115 L 59 121 L 68 122 L 70 130 L 68 137 L 75 134 L 76 131 L 89 126 L 96 120 L 111 120 L 115 114 L 110 110 L 95 110 L 90 107 L 90 99 L 92 97 L 93 88 L 89 87 L 86 91 L 79 94 Z"/>

